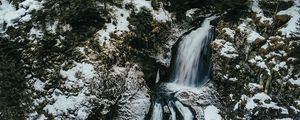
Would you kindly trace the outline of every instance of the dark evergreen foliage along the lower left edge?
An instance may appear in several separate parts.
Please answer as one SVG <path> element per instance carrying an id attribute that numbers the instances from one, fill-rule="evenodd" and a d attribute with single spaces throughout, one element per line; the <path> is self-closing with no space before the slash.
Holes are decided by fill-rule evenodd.
<path id="1" fill-rule="evenodd" d="M 0 38 L 0 118 L 22 120 L 30 110 L 22 43 Z"/>

